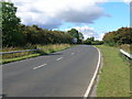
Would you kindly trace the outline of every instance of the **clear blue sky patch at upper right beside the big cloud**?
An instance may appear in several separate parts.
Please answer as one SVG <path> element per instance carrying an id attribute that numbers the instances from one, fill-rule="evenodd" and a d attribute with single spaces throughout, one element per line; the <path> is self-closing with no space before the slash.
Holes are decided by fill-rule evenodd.
<path id="1" fill-rule="evenodd" d="M 121 26 L 130 25 L 129 4 L 124 2 L 107 2 L 102 7 L 110 16 L 100 18 L 95 21 L 95 24 L 89 26 L 94 26 L 99 31 L 114 31 Z"/>

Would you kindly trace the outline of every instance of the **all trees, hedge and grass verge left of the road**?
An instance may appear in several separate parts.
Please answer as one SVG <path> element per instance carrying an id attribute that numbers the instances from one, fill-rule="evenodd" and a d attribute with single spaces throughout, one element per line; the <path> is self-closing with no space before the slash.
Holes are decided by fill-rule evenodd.
<path id="1" fill-rule="evenodd" d="M 57 31 L 42 29 L 38 25 L 21 24 L 21 19 L 15 15 L 16 9 L 13 3 L 0 1 L 2 19 L 2 50 L 0 52 L 12 52 L 23 50 L 36 50 L 36 52 L 24 52 L 2 55 L 1 63 L 9 63 L 23 58 L 46 55 L 70 47 L 73 44 L 81 44 L 82 33 L 76 29 L 69 31 Z M 73 40 L 76 38 L 76 42 Z"/>

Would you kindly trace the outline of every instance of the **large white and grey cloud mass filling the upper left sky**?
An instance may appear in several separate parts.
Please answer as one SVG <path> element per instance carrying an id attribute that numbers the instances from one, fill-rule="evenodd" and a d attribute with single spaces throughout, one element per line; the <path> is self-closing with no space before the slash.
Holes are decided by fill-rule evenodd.
<path id="1" fill-rule="evenodd" d="M 59 28 L 64 22 L 94 23 L 108 16 L 99 6 L 108 0 L 13 0 L 16 15 L 24 24 L 38 24 L 43 28 Z"/>

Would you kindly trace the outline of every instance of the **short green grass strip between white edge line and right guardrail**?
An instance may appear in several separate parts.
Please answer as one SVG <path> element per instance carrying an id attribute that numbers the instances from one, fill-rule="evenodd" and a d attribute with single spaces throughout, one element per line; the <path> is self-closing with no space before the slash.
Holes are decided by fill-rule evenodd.
<path id="1" fill-rule="evenodd" d="M 97 45 L 102 54 L 103 66 L 100 73 L 97 97 L 130 96 L 130 64 L 124 61 L 117 47 Z"/>

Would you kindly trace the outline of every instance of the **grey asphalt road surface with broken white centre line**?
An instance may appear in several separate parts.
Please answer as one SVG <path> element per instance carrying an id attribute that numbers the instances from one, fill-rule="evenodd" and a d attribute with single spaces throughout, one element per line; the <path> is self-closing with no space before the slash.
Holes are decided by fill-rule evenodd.
<path id="1" fill-rule="evenodd" d="M 97 67 L 99 53 L 89 45 L 6 64 L 7 97 L 82 97 Z"/>

